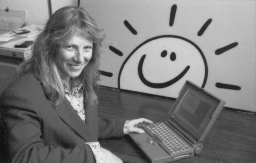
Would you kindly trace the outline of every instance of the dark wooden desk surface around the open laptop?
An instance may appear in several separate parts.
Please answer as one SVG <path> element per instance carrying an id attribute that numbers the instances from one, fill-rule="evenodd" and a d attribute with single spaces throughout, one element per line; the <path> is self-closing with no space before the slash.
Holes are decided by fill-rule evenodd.
<path id="1" fill-rule="evenodd" d="M 145 117 L 155 123 L 168 118 L 167 113 L 174 103 L 170 99 L 107 88 L 100 88 L 97 95 L 99 116 L 127 119 Z M 109 149 L 125 162 L 147 162 L 145 156 L 132 145 L 128 136 L 124 139 L 99 141 L 102 147 Z M 223 109 L 202 144 L 204 147 L 199 156 L 176 162 L 256 162 L 255 114 Z"/>

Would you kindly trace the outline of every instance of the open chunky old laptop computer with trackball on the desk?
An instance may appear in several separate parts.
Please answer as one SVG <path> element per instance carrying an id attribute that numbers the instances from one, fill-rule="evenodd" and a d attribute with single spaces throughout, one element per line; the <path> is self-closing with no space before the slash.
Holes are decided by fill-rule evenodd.
<path id="1" fill-rule="evenodd" d="M 145 133 L 129 137 L 152 163 L 166 163 L 199 155 L 201 142 L 213 126 L 225 101 L 186 81 L 165 122 L 140 125 Z"/>

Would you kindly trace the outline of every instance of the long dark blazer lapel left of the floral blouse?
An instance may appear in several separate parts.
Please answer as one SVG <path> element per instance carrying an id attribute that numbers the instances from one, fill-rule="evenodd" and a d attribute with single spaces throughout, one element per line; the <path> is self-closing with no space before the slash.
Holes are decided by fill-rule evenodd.
<path id="1" fill-rule="evenodd" d="M 60 118 L 75 132 L 77 132 L 77 134 L 80 135 L 84 140 L 91 141 L 94 139 L 94 136 L 90 134 L 90 128 L 79 117 L 66 97 L 58 106 L 55 107 L 55 111 L 60 116 Z"/>

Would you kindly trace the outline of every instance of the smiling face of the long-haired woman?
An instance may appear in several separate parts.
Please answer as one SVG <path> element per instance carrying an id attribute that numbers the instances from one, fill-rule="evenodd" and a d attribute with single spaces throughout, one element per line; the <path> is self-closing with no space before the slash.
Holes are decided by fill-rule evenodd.
<path id="1" fill-rule="evenodd" d="M 75 34 L 67 44 L 60 45 L 56 59 L 61 72 L 66 77 L 66 82 L 81 74 L 92 58 L 92 53 L 93 43 L 79 34 Z"/>

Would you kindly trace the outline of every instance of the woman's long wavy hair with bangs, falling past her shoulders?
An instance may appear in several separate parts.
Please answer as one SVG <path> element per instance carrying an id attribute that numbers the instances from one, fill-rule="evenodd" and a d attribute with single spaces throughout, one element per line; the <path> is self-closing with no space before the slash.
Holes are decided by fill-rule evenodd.
<path id="1" fill-rule="evenodd" d="M 62 7 L 46 23 L 32 47 L 32 57 L 18 67 L 18 74 L 34 74 L 43 84 L 45 94 L 55 99 L 55 105 L 65 97 L 63 73 L 56 64 L 56 55 L 61 44 L 65 44 L 76 33 L 93 42 L 92 58 L 79 77 L 83 92 L 91 97 L 91 103 L 97 103 L 94 87 L 99 81 L 100 45 L 105 34 L 81 7 Z M 71 78 L 71 83 L 77 79 Z M 86 98 L 85 98 L 86 99 Z"/>

